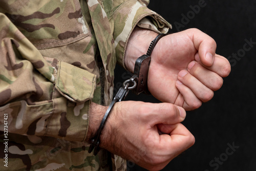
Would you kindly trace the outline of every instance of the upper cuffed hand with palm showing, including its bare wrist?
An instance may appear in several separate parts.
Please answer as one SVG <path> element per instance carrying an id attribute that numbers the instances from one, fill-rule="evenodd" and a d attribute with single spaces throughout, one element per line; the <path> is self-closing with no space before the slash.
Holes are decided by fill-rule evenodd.
<path id="1" fill-rule="evenodd" d="M 154 32 L 134 30 L 124 58 L 130 71 L 133 71 L 135 56 L 145 54 L 155 37 Z M 215 51 L 214 39 L 198 29 L 162 37 L 151 55 L 148 90 L 157 99 L 177 104 L 185 110 L 199 108 L 221 88 L 222 77 L 230 73 L 228 60 Z"/>

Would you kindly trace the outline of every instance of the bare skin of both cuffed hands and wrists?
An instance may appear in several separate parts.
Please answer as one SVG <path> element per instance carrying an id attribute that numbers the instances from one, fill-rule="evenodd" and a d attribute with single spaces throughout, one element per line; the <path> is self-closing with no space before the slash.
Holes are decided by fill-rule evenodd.
<path id="1" fill-rule="evenodd" d="M 124 63 L 133 71 L 157 33 L 135 28 Z M 162 37 L 151 55 L 148 89 L 163 103 L 122 101 L 114 105 L 100 136 L 100 147 L 149 169 L 160 170 L 195 143 L 182 122 L 221 88 L 230 73 L 226 58 L 217 55 L 214 39 L 197 29 Z M 108 109 L 90 105 L 87 141 L 95 135 Z M 127 131 L 129 130 L 129 131 Z M 161 132 L 161 134 L 159 134 Z"/>

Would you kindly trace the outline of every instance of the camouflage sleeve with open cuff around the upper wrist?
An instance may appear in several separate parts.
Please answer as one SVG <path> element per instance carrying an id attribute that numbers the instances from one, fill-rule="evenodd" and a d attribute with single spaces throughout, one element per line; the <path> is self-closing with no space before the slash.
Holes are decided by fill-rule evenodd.
<path id="1" fill-rule="evenodd" d="M 156 12 L 147 8 L 149 1 L 129 0 L 119 3 L 114 0 L 115 11 L 112 19 L 114 21 L 114 39 L 117 62 L 124 66 L 124 54 L 127 41 L 135 28 L 150 29 L 158 33 L 167 33 L 172 26 Z"/>

